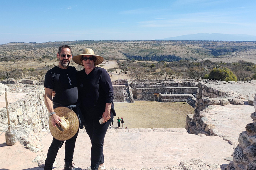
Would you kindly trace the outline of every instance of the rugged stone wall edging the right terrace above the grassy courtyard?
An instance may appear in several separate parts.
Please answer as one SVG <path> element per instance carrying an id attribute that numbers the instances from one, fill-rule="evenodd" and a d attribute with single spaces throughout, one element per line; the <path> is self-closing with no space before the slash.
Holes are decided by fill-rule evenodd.
<path id="1" fill-rule="evenodd" d="M 186 130 L 189 133 L 198 134 L 203 133 L 205 135 L 218 135 L 214 128 L 215 125 L 205 117 L 205 113 L 213 109 L 213 105 L 243 105 L 242 99 L 245 96 L 217 90 L 216 88 L 209 87 L 207 83 L 221 84 L 222 81 L 217 80 L 203 80 L 199 82 L 199 86 L 196 94 L 195 113 L 194 115 L 188 115 L 186 119 Z M 226 84 L 227 82 L 225 82 Z"/>

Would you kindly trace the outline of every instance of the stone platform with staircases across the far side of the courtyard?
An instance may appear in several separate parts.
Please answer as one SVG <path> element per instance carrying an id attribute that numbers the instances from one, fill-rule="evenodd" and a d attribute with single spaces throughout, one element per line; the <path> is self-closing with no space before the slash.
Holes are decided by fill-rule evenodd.
<path id="1" fill-rule="evenodd" d="M 160 94 L 161 102 L 187 102 L 192 107 L 195 106 L 195 98 L 192 94 L 197 92 L 197 84 L 194 79 L 188 80 L 153 80 L 153 79 L 144 79 L 144 80 L 127 80 L 127 79 L 118 79 L 112 81 L 114 93 L 117 86 L 123 85 L 125 89 L 125 99 L 120 101 L 133 101 L 135 100 L 155 100 L 154 93 Z M 165 100 L 164 95 L 173 94 L 172 99 Z M 187 94 L 181 98 L 182 94 Z M 114 94 L 115 95 L 115 94 Z M 178 95 L 178 96 L 174 96 Z M 166 97 L 166 96 L 165 96 Z M 115 98 L 115 96 L 114 96 Z M 119 97 L 121 98 L 121 97 Z M 185 99 L 184 99 L 185 98 Z M 116 101 L 118 102 L 118 101 Z"/>

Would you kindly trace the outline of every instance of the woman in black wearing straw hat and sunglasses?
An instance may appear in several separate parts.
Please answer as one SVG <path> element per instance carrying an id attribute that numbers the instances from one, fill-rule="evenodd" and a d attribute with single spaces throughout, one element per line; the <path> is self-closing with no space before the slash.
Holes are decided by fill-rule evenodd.
<path id="1" fill-rule="evenodd" d="M 90 48 L 84 49 L 83 54 L 74 56 L 73 61 L 84 66 L 77 73 L 77 83 L 80 109 L 92 143 L 91 166 L 87 170 L 104 170 L 104 138 L 113 117 L 116 116 L 111 79 L 104 68 L 96 67 L 102 63 L 103 57 L 95 55 Z M 99 123 L 101 118 L 103 124 Z"/>

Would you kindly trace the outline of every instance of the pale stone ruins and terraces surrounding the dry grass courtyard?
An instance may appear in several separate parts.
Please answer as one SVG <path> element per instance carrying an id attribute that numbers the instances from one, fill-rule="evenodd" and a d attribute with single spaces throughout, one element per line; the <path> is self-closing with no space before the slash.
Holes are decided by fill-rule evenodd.
<path id="1" fill-rule="evenodd" d="M 183 102 L 194 114 L 187 114 L 185 128 L 109 128 L 108 170 L 256 170 L 256 81 L 118 79 L 112 84 L 114 102 Z M 52 140 L 43 85 L 27 79 L 0 82 L 0 170 L 43 169 Z M 9 129 L 12 146 L 6 145 Z M 90 162 L 89 142 L 80 129 L 73 159 L 78 170 Z M 62 150 L 55 170 L 63 169 L 63 155 Z"/>

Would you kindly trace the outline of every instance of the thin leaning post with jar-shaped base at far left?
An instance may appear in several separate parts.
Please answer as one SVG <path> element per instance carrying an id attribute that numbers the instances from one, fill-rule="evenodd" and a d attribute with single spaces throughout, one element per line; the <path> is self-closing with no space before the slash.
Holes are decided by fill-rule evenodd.
<path id="1" fill-rule="evenodd" d="M 6 145 L 14 145 L 15 144 L 15 133 L 11 131 L 11 122 L 10 122 L 10 116 L 9 116 L 9 109 L 8 109 L 8 100 L 7 100 L 7 88 L 5 88 L 5 105 L 6 105 L 6 113 L 8 118 L 8 130 L 5 133 L 5 141 Z"/>

